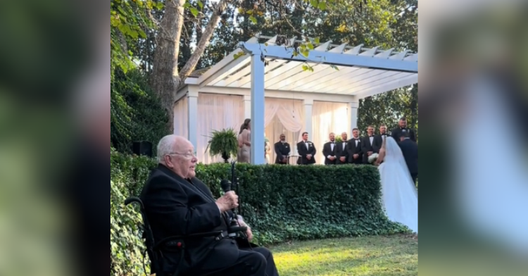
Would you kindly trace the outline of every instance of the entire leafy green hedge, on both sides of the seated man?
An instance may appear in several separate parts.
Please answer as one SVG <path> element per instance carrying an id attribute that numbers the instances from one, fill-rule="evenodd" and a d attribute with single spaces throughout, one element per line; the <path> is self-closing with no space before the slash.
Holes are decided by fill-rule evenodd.
<path id="1" fill-rule="evenodd" d="M 151 158 L 111 153 L 111 258 L 121 270 L 111 275 L 142 269 L 139 215 L 122 202 L 141 192 L 155 167 Z M 231 178 L 230 165 L 224 163 L 200 164 L 196 174 L 217 197 L 220 180 Z M 242 214 L 258 244 L 406 232 L 384 215 L 379 173 L 370 165 L 237 164 L 237 176 Z"/>

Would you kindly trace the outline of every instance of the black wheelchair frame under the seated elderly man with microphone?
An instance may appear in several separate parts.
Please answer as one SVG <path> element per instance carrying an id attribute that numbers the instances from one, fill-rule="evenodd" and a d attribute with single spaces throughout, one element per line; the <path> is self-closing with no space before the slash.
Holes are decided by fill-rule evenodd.
<path id="1" fill-rule="evenodd" d="M 145 206 L 143 204 L 143 201 L 139 199 L 139 197 L 132 196 L 125 200 L 125 206 L 129 205 L 130 203 L 139 204 L 139 213 L 141 213 L 142 220 L 143 220 L 143 224 L 139 225 L 139 228 L 143 230 L 142 239 L 144 239 L 144 244 L 146 247 L 145 251 L 146 251 L 146 254 L 149 256 L 149 259 L 151 260 L 151 271 L 150 271 L 151 275 L 158 273 L 158 276 L 162 276 L 159 273 L 162 273 L 161 268 L 162 268 L 162 263 L 163 263 L 163 256 L 161 253 L 161 249 L 163 247 L 170 246 L 171 248 L 175 248 L 181 251 L 180 262 L 178 263 L 178 267 L 176 268 L 176 271 L 172 273 L 172 276 L 178 276 L 180 273 L 180 265 L 182 264 L 184 260 L 186 239 L 191 239 L 191 238 L 196 239 L 196 238 L 201 238 L 201 237 L 214 237 L 214 236 L 219 236 L 222 234 L 222 231 L 203 232 L 203 233 L 189 234 L 187 236 L 167 237 L 165 239 L 162 239 L 161 241 L 154 241 L 154 236 L 152 233 L 151 226 L 149 224 L 149 219 L 146 216 L 146 211 L 145 211 Z M 145 252 L 143 254 L 145 255 Z M 146 270 L 145 270 L 145 273 L 146 273 Z M 199 276 L 199 275 L 196 275 L 196 276 Z"/>

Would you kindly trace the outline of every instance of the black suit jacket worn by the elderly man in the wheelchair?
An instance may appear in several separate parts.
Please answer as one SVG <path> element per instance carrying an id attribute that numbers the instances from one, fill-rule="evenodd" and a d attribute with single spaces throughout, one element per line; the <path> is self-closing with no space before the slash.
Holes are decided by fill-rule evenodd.
<path id="1" fill-rule="evenodd" d="M 166 237 L 199 232 L 227 231 L 227 213 L 221 214 L 210 190 L 194 177 L 190 182 L 159 165 L 151 172 L 141 194 L 156 242 Z M 239 256 L 232 239 L 188 239 L 181 272 L 201 267 L 216 270 L 233 265 Z M 162 251 L 163 272 L 175 272 L 180 253 Z M 159 272 L 158 272 L 159 273 Z M 159 273 L 161 274 L 161 273 Z"/>

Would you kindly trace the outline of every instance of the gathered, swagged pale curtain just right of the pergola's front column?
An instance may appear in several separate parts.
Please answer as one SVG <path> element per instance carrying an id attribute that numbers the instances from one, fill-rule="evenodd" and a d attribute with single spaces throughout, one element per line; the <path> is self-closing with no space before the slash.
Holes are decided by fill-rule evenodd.
<path id="1" fill-rule="evenodd" d="M 280 134 L 286 135 L 286 141 L 291 145 L 290 154 L 296 155 L 296 144 L 304 131 L 303 101 L 266 98 L 264 121 L 265 136 L 271 146 L 270 163 L 275 163 L 274 144 L 279 142 Z"/>

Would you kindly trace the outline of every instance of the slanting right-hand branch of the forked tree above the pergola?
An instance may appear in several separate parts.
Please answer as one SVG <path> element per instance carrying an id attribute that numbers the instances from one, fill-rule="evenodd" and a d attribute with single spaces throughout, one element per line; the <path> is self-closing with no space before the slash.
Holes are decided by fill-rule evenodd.
<path id="1" fill-rule="evenodd" d="M 203 51 L 205 51 L 206 47 L 209 45 L 210 38 L 213 36 L 213 32 L 215 32 L 215 29 L 218 23 L 220 22 L 220 15 L 224 13 L 228 3 L 230 3 L 229 0 L 220 0 L 218 2 L 218 5 L 213 11 L 213 14 L 210 16 L 209 23 L 207 24 L 206 29 L 203 30 L 200 41 L 198 42 L 198 44 L 196 44 L 196 49 L 194 49 L 194 53 L 192 53 L 191 57 L 189 58 L 189 61 L 187 61 L 187 63 L 185 63 L 185 65 L 183 66 L 182 70 L 180 70 L 180 74 L 178 74 L 178 76 L 180 77 L 180 83 L 184 83 L 185 78 L 191 74 L 194 68 L 196 68 L 196 64 L 198 64 L 198 61 L 200 60 L 200 57 L 203 54 Z"/>

